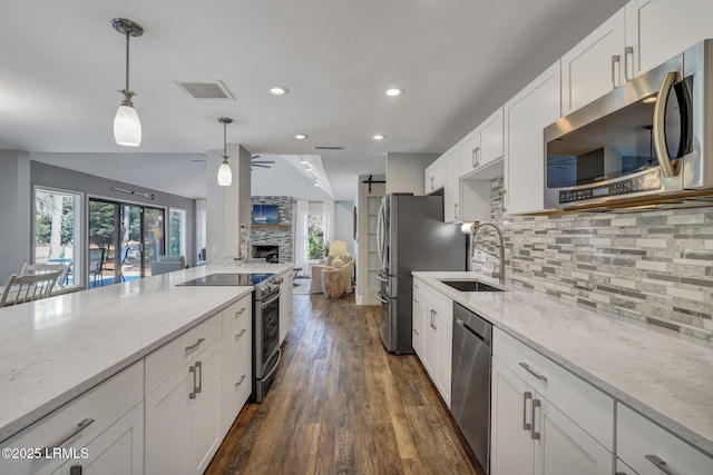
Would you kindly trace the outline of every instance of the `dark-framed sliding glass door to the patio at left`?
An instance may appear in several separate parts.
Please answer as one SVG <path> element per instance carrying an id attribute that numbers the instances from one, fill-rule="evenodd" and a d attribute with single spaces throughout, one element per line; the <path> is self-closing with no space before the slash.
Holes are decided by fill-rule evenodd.
<path id="1" fill-rule="evenodd" d="M 150 275 L 164 254 L 163 208 L 89 199 L 89 287 Z"/>

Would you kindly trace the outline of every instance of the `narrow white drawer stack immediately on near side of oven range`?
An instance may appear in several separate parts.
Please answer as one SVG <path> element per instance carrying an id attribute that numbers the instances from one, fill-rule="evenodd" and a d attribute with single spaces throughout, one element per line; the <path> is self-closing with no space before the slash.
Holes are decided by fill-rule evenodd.
<path id="1" fill-rule="evenodd" d="M 252 392 L 252 295 L 246 295 L 223 310 L 223 434 Z"/>

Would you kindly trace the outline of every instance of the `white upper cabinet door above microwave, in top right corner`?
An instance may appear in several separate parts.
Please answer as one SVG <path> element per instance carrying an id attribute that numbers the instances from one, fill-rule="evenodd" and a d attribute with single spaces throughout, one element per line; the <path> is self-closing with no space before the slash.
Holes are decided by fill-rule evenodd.
<path id="1" fill-rule="evenodd" d="M 710 0 L 632 0 L 626 4 L 626 46 L 634 76 L 646 72 L 705 39 L 713 38 Z"/>

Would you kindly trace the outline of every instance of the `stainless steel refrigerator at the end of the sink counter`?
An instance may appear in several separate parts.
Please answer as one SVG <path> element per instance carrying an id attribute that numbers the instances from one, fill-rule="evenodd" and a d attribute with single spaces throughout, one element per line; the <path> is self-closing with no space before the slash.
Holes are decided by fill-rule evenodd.
<path id="1" fill-rule="evenodd" d="M 385 195 L 377 226 L 381 342 L 391 353 L 412 354 L 413 270 L 466 270 L 468 239 L 443 222 L 442 196 Z"/>

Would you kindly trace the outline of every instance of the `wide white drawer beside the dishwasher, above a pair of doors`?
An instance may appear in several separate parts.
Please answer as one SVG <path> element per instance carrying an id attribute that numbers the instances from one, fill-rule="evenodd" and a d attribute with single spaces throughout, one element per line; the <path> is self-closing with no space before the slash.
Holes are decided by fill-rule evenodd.
<path id="1" fill-rule="evenodd" d="M 614 399 L 497 327 L 492 331 L 492 354 L 614 452 Z"/>

